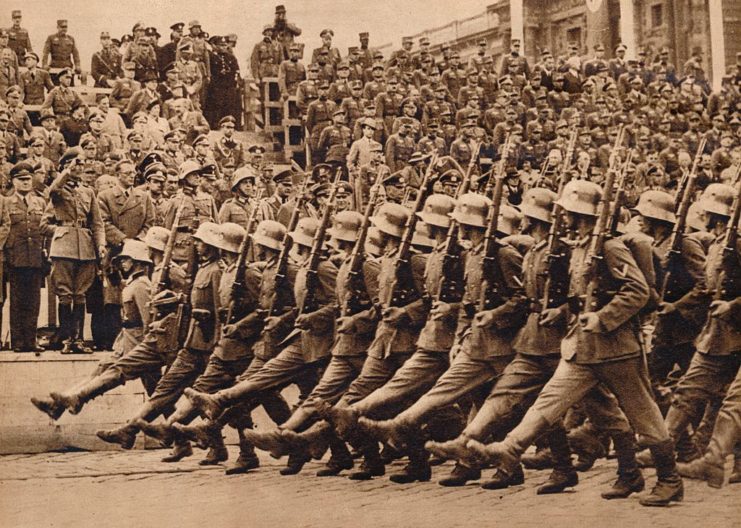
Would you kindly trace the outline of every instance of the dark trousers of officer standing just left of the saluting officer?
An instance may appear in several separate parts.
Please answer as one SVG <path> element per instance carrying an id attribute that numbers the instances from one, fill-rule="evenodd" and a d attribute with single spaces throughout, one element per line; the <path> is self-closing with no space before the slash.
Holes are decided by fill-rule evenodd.
<path id="1" fill-rule="evenodd" d="M 36 346 L 36 324 L 41 306 L 41 268 L 7 268 L 10 283 L 10 340 L 13 348 Z"/>

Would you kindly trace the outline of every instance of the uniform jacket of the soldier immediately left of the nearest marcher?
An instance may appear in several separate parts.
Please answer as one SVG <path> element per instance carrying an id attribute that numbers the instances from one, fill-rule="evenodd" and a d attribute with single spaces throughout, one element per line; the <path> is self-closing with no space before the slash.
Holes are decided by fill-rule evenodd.
<path id="1" fill-rule="evenodd" d="M 528 312 L 525 326 L 517 333 L 512 347 L 519 354 L 528 356 L 551 356 L 561 353 L 561 339 L 566 335 L 566 291 L 560 298 L 550 298 L 549 305 L 553 308 L 562 308 L 564 316 L 555 324 L 542 326 L 540 324 L 540 304 L 545 295 L 545 284 L 549 271 L 547 242 L 545 240 L 533 245 L 522 260 L 523 281 L 522 288 Z M 554 266 L 553 280 L 567 279 L 568 260 L 561 259 L 558 266 Z M 551 289 L 553 292 L 554 289 Z"/>

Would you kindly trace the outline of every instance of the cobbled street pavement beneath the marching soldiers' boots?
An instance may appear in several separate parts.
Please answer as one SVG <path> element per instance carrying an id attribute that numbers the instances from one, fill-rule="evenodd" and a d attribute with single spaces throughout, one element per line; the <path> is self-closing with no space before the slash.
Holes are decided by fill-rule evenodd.
<path id="1" fill-rule="evenodd" d="M 230 448 L 232 457 L 235 448 Z M 197 465 L 202 452 L 180 464 L 159 461 L 162 450 L 77 452 L 0 457 L 0 526 L 42 527 L 736 527 L 741 485 L 712 490 L 686 481 L 685 500 L 671 508 L 643 508 L 637 497 L 604 501 L 613 461 L 581 474 L 575 491 L 537 496 L 547 472 L 505 491 L 477 485 L 443 488 L 433 481 L 400 486 L 381 478 L 352 482 L 314 476 L 282 477 L 282 462 L 263 457 L 249 475 L 226 477 L 222 467 Z M 647 471 L 649 484 L 653 471 Z"/>

